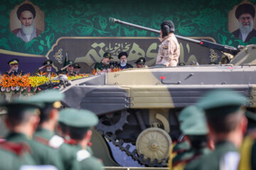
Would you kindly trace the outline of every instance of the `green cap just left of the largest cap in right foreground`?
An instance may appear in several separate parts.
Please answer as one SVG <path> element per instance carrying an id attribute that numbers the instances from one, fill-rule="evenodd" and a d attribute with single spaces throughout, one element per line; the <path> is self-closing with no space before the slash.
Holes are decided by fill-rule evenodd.
<path id="1" fill-rule="evenodd" d="M 181 131 L 185 135 L 206 135 L 208 133 L 208 127 L 206 125 L 206 118 L 203 111 L 196 106 L 191 106 L 191 115 L 183 120 L 181 123 Z"/>

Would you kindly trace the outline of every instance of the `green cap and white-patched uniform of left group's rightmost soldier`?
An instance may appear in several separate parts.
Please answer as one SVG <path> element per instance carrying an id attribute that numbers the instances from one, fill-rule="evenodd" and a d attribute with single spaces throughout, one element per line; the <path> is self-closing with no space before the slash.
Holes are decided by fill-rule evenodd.
<path id="1" fill-rule="evenodd" d="M 70 130 L 70 137 L 73 136 L 73 129 L 79 129 L 82 134 L 86 134 L 87 130 L 93 125 L 97 125 L 97 116 L 86 110 L 76 110 L 68 108 L 60 111 L 60 119 L 62 123 L 68 125 Z M 73 159 L 72 169 L 103 169 L 103 164 L 95 157 L 93 157 L 86 148 L 77 143 L 75 147 L 75 159 Z"/>

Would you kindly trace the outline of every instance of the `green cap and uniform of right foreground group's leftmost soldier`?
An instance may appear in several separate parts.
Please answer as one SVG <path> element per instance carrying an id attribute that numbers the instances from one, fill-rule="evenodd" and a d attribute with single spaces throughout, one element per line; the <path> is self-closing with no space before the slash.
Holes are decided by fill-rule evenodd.
<path id="1" fill-rule="evenodd" d="M 193 117 L 193 118 L 192 118 Z M 208 128 L 206 120 L 203 115 L 203 111 L 196 106 L 188 106 L 181 111 L 178 118 L 181 121 L 181 131 L 184 135 L 188 136 L 188 140 L 201 141 L 206 138 Z M 194 148 L 193 145 L 176 155 L 172 160 L 172 166 L 174 169 L 183 169 L 186 164 L 198 159 L 203 154 L 210 153 L 210 150 L 206 147 Z"/>

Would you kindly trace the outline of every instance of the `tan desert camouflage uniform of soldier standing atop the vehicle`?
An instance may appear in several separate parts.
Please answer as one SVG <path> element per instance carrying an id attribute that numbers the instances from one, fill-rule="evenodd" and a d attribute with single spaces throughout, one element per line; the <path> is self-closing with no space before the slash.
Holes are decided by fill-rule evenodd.
<path id="1" fill-rule="evenodd" d="M 159 45 L 159 52 L 156 57 L 156 65 L 164 65 L 166 67 L 175 67 L 178 64 L 180 55 L 180 46 L 174 33 L 164 37 Z"/>

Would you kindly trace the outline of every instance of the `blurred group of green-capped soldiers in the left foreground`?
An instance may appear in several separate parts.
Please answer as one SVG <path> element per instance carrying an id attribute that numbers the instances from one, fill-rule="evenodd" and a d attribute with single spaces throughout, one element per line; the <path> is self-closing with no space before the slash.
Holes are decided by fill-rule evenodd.
<path id="1" fill-rule="evenodd" d="M 9 133 L 0 140 L 0 169 L 103 169 L 90 148 L 97 116 L 75 108 L 59 112 L 63 98 L 49 90 L 1 103 Z"/>

